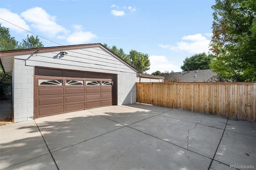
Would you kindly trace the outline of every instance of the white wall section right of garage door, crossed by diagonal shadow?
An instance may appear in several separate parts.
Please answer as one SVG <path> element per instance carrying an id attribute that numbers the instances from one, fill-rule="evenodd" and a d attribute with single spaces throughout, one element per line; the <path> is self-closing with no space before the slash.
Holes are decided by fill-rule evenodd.
<path id="1" fill-rule="evenodd" d="M 118 105 L 136 103 L 137 73 L 118 74 Z"/>

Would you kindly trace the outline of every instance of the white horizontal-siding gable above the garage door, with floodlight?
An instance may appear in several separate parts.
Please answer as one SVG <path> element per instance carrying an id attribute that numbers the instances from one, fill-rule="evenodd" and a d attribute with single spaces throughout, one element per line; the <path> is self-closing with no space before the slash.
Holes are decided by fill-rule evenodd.
<path id="1" fill-rule="evenodd" d="M 116 73 L 116 71 L 136 73 L 128 65 L 114 57 L 101 47 L 65 50 L 67 55 L 60 55 L 60 51 L 47 53 L 33 53 L 18 55 L 15 59 L 26 61 L 27 66 L 52 67 L 81 71 Z"/>

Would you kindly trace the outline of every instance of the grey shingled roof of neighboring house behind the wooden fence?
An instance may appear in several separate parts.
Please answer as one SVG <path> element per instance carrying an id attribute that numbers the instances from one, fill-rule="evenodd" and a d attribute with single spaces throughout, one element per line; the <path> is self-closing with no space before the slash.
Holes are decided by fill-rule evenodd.
<path id="1" fill-rule="evenodd" d="M 210 69 L 205 70 L 192 70 L 192 71 L 180 71 L 176 73 L 161 73 L 160 76 L 164 76 L 164 80 L 174 79 L 179 77 L 181 82 L 206 82 L 212 76 L 217 75 Z"/>

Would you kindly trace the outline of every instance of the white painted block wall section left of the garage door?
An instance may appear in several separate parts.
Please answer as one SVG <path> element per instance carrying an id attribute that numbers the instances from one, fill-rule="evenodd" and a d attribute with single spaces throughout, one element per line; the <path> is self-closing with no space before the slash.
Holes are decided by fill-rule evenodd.
<path id="1" fill-rule="evenodd" d="M 25 60 L 14 59 L 13 113 L 14 122 L 34 119 L 34 67 Z"/>

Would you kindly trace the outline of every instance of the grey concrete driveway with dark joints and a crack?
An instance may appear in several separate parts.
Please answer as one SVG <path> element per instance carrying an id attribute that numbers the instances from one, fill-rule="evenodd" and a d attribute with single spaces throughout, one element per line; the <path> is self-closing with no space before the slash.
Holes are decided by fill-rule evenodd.
<path id="1" fill-rule="evenodd" d="M 255 127 L 152 105 L 102 107 L 0 126 L 0 169 L 255 169 Z"/>

